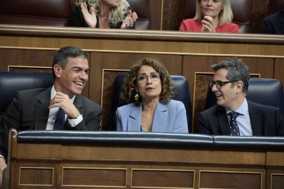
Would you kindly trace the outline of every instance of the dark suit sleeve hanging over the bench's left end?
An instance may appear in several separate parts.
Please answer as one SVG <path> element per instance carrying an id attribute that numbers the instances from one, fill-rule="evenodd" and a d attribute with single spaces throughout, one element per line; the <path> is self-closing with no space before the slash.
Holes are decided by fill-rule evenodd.
<path id="1" fill-rule="evenodd" d="M 4 112 L 0 123 L 0 154 L 7 159 L 10 128 L 19 130 L 21 121 L 19 93 Z"/>

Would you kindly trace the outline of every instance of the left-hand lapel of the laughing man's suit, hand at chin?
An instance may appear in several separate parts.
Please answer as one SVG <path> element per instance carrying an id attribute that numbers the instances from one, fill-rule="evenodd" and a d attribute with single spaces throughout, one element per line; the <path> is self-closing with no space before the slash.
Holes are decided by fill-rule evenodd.
<path id="1" fill-rule="evenodd" d="M 51 88 L 38 95 L 38 103 L 34 107 L 34 129 L 45 130 L 47 127 L 47 119 L 49 116 Z"/>

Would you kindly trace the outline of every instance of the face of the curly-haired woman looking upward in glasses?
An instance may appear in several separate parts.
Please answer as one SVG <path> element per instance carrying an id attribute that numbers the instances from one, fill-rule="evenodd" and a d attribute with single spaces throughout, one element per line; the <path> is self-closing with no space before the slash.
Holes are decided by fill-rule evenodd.
<path id="1" fill-rule="evenodd" d="M 137 73 L 137 86 L 135 90 L 139 92 L 142 101 L 159 101 L 162 91 L 161 79 L 152 66 L 141 66 Z"/>

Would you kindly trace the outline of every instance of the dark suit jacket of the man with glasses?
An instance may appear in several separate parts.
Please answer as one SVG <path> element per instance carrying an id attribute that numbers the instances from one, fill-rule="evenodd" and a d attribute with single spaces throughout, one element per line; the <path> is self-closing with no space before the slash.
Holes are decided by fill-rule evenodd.
<path id="1" fill-rule="evenodd" d="M 279 108 L 248 101 L 248 111 L 253 136 L 284 136 L 284 118 Z M 230 135 L 225 108 L 214 105 L 201 112 L 198 133 Z"/>

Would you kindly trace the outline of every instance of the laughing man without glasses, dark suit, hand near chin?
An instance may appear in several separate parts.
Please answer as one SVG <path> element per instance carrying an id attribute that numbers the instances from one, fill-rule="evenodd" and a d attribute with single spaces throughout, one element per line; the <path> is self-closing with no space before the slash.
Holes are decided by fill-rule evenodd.
<path id="1" fill-rule="evenodd" d="M 18 92 L 3 114 L 0 123 L 0 178 L 6 167 L 10 128 L 78 131 L 100 129 L 102 107 L 80 95 L 88 81 L 86 53 L 77 47 L 63 47 L 54 56 L 52 68 L 54 86 Z M 56 126 L 58 112 L 62 112 L 60 126 Z"/>

